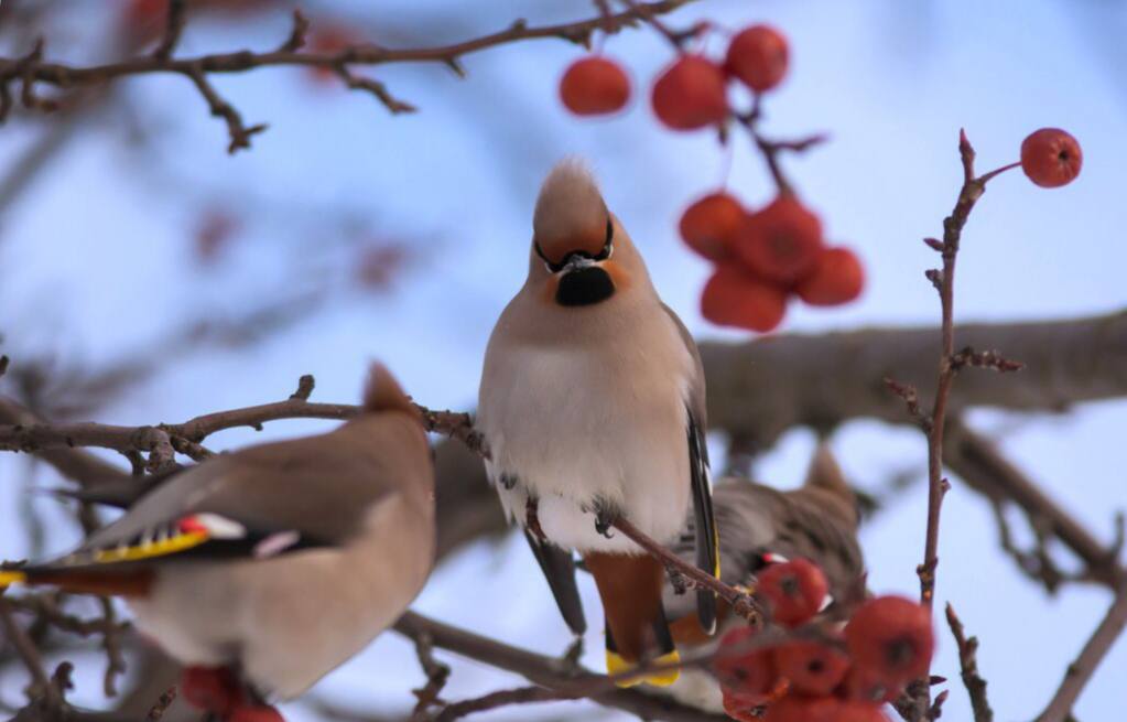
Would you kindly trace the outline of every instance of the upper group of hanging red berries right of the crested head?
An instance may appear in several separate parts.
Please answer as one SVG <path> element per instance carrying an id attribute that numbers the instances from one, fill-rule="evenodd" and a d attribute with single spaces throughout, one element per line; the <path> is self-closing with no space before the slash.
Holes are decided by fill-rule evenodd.
<path id="1" fill-rule="evenodd" d="M 654 113 L 677 131 L 720 126 L 729 117 L 748 122 L 729 106 L 728 83 L 740 82 L 758 98 L 782 82 L 788 63 L 787 38 L 766 25 L 737 33 L 722 63 L 680 52 L 654 82 Z M 627 104 L 630 80 L 618 63 L 588 56 L 564 73 L 560 97 L 578 115 L 612 113 Z M 827 247 L 820 220 L 789 188 L 755 212 L 729 193 L 706 195 L 682 215 L 681 236 L 717 265 L 701 307 L 721 326 L 767 332 L 782 322 L 791 296 L 836 306 L 855 299 L 864 284 L 857 255 Z"/>

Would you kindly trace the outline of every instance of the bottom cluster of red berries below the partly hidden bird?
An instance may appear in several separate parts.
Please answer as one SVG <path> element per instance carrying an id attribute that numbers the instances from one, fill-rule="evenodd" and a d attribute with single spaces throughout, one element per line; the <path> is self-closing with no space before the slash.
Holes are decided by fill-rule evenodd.
<path id="1" fill-rule="evenodd" d="M 817 614 L 828 587 L 818 566 L 795 560 L 769 566 L 756 596 L 772 619 L 796 628 Z M 725 712 L 745 722 L 887 722 L 885 703 L 928 673 L 934 650 L 931 613 L 902 597 L 866 601 L 844 631 L 808 625 L 770 646 L 758 629 L 726 634 L 712 663 Z M 816 631 L 817 633 L 813 633 Z"/>

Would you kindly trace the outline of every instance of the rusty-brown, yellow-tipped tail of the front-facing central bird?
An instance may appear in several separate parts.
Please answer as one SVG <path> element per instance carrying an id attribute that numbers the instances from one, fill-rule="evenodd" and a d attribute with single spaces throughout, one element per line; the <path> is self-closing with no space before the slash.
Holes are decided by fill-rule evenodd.
<path id="1" fill-rule="evenodd" d="M 620 687 L 675 683 L 681 658 L 662 605 L 662 564 L 650 556 L 603 553 L 587 553 L 584 562 L 606 616 L 606 673 Z M 658 669 L 631 676 L 644 660 Z"/>

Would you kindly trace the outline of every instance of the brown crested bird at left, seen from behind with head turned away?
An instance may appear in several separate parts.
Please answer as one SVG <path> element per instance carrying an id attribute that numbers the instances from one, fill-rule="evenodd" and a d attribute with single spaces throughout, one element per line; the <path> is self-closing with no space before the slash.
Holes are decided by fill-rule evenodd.
<path id="1" fill-rule="evenodd" d="M 0 571 L 0 587 L 124 597 L 137 627 L 188 667 L 189 702 L 256 720 L 393 623 L 434 546 L 426 435 L 375 364 L 355 419 L 174 473 L 73 553 Z"/>

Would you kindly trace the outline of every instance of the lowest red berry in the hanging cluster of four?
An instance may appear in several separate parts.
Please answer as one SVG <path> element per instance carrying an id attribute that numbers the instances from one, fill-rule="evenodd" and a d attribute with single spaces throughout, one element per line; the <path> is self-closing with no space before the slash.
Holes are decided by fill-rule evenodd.
<path id="1" fill-rule="evenodd" d="M 718 326 L 766 333 L 782 323 L 787 293 L 742 267 L 721 265 L 701 293 L 701 314 Z"/>

